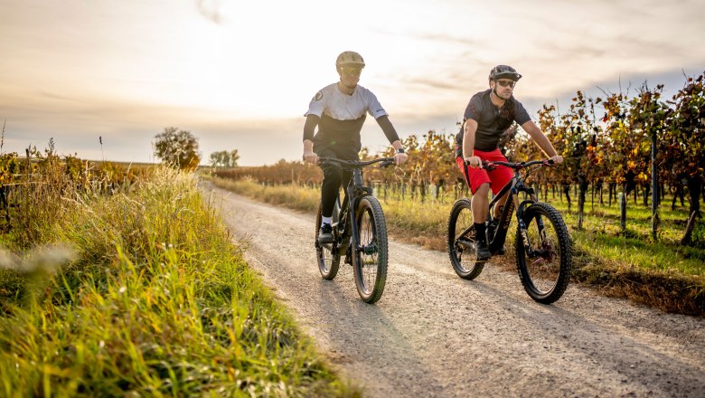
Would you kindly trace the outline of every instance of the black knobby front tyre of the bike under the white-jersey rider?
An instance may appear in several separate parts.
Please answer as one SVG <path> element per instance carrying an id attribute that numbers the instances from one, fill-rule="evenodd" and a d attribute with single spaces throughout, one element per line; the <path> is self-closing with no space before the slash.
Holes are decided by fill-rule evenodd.
<path id="1" fill-rule="evenodd" d="M 367 245 L 369 242 L 361 242 L 362 232 L 361 224 L 362 217 L 365 215 L 371 217 L 371 229 L 373 241 L 376 242 L 377 252 L 375 261 L 375 277 L 374 280 L 366 280 L 366 274 L 363 272 L 363 264 L 366 257 L 361 251 L 355 251 L 357 244 Z M 371 195 L 362 196 L 355 211 L 355 225 L 357 236 L 353 239 L 353 274 L 355 286 L 362 301 L 372 304 L 381 298 L 384 291 L 384 285 L 387 281 L 387 261 L 388 261 L 388 239 L 387 239 L 387 223 L 384 219 L 384 213 L 380 202 Z M 372 257 L 373 258 L 373 257 Z"/>

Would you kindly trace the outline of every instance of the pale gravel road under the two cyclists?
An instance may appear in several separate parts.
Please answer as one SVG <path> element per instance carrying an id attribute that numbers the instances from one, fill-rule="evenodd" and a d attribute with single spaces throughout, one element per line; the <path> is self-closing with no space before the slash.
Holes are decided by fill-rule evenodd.
<path id="1" fill-rule="evenodd" d="M 384 294 L 365 304 L 349 265 L 321 279 L 313 215 L 205 190 L 249 265 L 365 396 L 705 396 L 701 317 L 573 285 L 540 305 L 515 272 L 489 262 L 461 280 L 446 252 L 394 241 Z"/>

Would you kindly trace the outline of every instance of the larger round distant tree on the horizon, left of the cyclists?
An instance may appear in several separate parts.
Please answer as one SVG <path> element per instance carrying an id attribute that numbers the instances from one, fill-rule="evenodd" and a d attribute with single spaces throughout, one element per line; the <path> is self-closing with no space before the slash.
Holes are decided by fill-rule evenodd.
<path id="1" fill-rule="evenodd" d="M 198 138 L 191 131 L 164 128 L 164 132 L 157 134 L 155 139 L 155 156 L 170 166 L 193 170 L 201 161 Z"/>

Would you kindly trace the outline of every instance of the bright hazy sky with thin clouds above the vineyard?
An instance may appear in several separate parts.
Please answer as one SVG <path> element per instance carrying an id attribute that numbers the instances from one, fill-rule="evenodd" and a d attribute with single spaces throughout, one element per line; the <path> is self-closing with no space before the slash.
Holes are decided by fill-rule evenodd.
<path id="1" fill-rule="evenodd" d="M 155 136 L 191 131 L 207 163 L 298 160 L 304 113 L 360 52 L 360 85 L 401 138 L 455 133 L 496 64 L 537 120 L 543 104 L 705 71 L 701 0 L 0 0 L 2 152 L 154 162 Z M 621 89 L 620 89 L 621 88 Z M 100 143 L 102 141 L 102 144 Z M 362 144 L 389 146 L 368 118 Z"/>

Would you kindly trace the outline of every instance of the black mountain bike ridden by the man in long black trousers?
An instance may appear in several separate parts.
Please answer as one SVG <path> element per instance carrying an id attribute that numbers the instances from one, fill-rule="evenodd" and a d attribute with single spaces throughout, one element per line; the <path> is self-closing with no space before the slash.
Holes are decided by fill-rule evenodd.
<path id="1" fill-rule="evenodd" d="M 351 161 L 319 157 L 319 164 L 337 164 L 351 170 L 353 177 L 345 188 L 345 198 L 335 201 L 333 211 L 333 242 L 319 243 L 321 204 L 315 217 L 315 251 L 318 270 L 324 280 L 333 280 L 338 273 L 341 257 L 353 265 L 357 292 L 362 301 L 374 303 L 381 298 L 387 280 L 387 223 L 380 202 L 372 189 L 362 185 L 362 168 L 379 163 L 379 167 L 394 164 L 393 157 L 368 161 Z M 351 221 L 354 220 L 354 223 Z"/>

